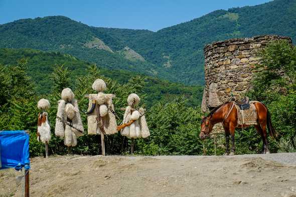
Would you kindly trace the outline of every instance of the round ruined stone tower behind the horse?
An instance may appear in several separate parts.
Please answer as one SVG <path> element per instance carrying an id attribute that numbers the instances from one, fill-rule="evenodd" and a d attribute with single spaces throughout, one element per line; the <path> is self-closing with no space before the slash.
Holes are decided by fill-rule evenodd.
<path id="1" fill-rule="evenodd" d="M 260 64 L 256 52 L 269 41 L 291 39 L 283 36 L 266 35 L 253 38 L 230 39 L 206 45 L 205 89 L 202 111 L 206 112 L 231 97 L 246 93 L 255 65 Z"/>

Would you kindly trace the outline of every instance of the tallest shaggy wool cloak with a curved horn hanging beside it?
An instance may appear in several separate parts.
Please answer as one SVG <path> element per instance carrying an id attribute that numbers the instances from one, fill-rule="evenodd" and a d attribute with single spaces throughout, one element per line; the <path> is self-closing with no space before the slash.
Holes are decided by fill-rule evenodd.
<path id="1" fill-rule="evenodd" d="M 110 109 L 114 111 L 114 105 L 112 104 L 112 94 L 104 94 L 99 92 L 98 94 L 90 94 L 88 99 L 88 110 L 91 109 L 92 103 L 95 100 L 96 106 L 92 113 L 87 115 L 88 134 L 95 135 L 101 134 L 100 127 L 97 122 L 97 118 L 102 118 L 102 126 L 107 135 L 111 135 L 117 132 L 117 123 L 115 115 Z"/>

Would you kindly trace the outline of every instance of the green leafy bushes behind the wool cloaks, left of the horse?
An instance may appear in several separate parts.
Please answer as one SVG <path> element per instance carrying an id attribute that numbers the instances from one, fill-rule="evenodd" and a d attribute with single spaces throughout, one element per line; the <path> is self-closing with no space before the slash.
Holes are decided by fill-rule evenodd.
<path id="1" fill-rule="evenodd" d="M 149 96 L 143 91 L 147 85 L 145 78 L 140 76 L 132 77 L 128 82 L 118 82 L 101 75 L 95 65 L 87 67 L 84 76 L 76 79 L 70 77 L 70 70 L 65 66 L 56 65 L 50 74 L 53 82 L 52 92 L 46 95 L 39 95 L 35 91 L 35 84 L 27 75 L 26 61 L 20 61 L 18 65 L 0 65 L 3 90 L 0 95 L 0 128 L 1 130 L 28 129 L 30 131 L 30 152 L 32 156 L 42 155 L 44 145 L 36 140 L 37 129 L 37 101 L 45 97 L 49 99 L 49 121 L 52 130 L 50 151 L 54 154 L 65 154 L 66 147 L 63 140 L 54 136 L 55 116 L 57 112 L 57 101 L 60 99 L 60 92 L 65 87 L 71 87 L 79 101 L 82 111 L 82 121 L 87 130 L 86 114 L 88 99 L 84 98 L 87 93 L 94 93 L 91 89 L 92 82 L 102 78 L 108 84 L 107 93 L 116 95 L 114 98 L 115 111 L 119 117 L 123 117 L 120 107 L 126 106 L 126 98 L 130 93 L 137 93 L 141 99 L 141 106 Z M 179 113 L 180 112 L 180 113 Z M 146 118 L 151 129 L 149 139 L 137 140 L 136 150 L 142 154 L 199 154 L 201 153 L 201 142 L 198 140 L 200 121 L 200 109 L 186 106 L 186 99 L 180 97 L 168 103 L 161 102 L 151 107 Z M 121 122 L 122 119 L 117 120 Z M 179 139 L 182 137 L 182 140 Z M 108 154 L 124 154 L 129 150 L 129 141 L 119 133 L 106 137 Z M 183 146 L 184 145 L 184 146 Z M 98 136 L 84 135 L 78 138 L 78 145 L 73 149 L 76 154 L 98 154 L 100 151 L 100 140 Z"/>

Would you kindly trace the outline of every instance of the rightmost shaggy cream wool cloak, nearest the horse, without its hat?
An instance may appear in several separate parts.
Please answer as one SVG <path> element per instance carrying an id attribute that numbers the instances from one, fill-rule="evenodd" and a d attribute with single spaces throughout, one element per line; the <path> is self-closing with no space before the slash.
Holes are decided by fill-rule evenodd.
<path id="1" fill-rule="evenodd" d="M 150 136 L 150 131 L 147 126 L 144 109 L 132 111 L 131 106 L 126 107 L 123 123 L 128 123 L 130 120 L 135 120 L 130 126 L 126 126 L 121 130 L 121 135 L 128 138 L 146 138 Z"/>

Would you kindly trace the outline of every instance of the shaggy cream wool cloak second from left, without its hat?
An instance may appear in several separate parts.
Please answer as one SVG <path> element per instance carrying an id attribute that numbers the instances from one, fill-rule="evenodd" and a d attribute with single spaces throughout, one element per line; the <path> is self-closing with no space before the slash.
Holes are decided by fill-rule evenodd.
<path id="1" fill-rule="evenodd" d="M 59 100 L 55 134 L 62 138 L 65 137 L 64 144 L 66 146 L 76 146 L 77 137 L 82 136 L 83 133 L 65 123 L 65 121 L 69 122 L 69 120 L 75 128 L 82 132 L 84 131 L 77 100 L 73 99 L 70 103 L 66 103 L 65 100 Z"/>

